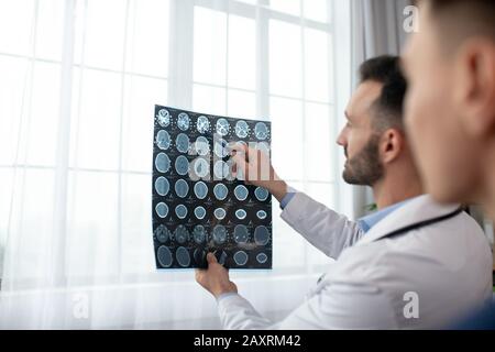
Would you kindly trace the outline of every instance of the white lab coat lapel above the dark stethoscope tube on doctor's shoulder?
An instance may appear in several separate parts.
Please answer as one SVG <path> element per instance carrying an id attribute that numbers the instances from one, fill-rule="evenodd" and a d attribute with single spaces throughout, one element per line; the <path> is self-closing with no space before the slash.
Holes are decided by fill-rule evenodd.
<path id="1" fill-rule="evenodd" d="M 459 206 L 458 204 L 440 205 L 429 195 L 416 197 L 377 222 L 356 245 L 386 238 L 389 233 L 408 226 L 449 215 Z"/>

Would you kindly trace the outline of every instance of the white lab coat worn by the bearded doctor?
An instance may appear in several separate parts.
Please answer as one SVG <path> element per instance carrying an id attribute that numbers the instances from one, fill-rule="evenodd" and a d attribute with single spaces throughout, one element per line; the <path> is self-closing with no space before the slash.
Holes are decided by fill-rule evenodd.
<path id="1" fill-rule="evenodd" d="M 363 234 L 356 222 L 305 194 L 296 194 L 282 218 L 337 261 L 329 264 L 324 278 L 309 292 L 305 302 L 278 322 L 261 316 L 241 295 L 221 297 L 218 308 L 223 328 L 448 327 L 492 296 L 492 254 L 482 229 L 461 212 L 402 235 L 386 235 L 451 213 L 458 207 L 420 196 Z M 414 316 L 415 307 L 418 318 Z"/>

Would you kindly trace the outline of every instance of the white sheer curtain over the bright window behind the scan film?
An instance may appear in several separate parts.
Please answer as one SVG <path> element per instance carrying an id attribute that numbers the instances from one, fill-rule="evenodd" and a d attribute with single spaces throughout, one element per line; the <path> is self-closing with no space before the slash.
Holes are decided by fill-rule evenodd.
<path id="1" fill-rule="evenodd" d="M 193 271 L 154 267 L 155 103 L 271 119 L 282 176 L 352 215 L 349 19 L 330 0 L 0 0 L 0 328 L 219 327 Z M 272 317 L 329 263 L 278 215 L 274 270 L 231 273 Z"/>

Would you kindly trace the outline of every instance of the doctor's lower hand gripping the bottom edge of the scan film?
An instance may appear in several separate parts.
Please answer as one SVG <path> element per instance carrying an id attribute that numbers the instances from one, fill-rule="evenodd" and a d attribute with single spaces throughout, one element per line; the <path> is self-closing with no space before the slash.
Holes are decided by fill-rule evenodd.
<path id="1" fill-rule="evenodd" d="M 213 253 L 208 253 L 208 270 L 196 270 L 196 280 L 215 298 L 221 294 L 238 293 L 238 287 L 229 279 L 229 272 L 217 262 Z"/>

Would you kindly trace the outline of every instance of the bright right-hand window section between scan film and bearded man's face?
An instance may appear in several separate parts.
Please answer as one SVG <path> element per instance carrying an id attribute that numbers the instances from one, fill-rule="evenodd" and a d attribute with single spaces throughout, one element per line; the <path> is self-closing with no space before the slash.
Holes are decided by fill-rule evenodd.
<path id="1" fill-rule="evenodd" d="M 334 208 L 331 1 L 246 2 L 196 1 L 193 108 L 270 119 L 280 176 Z M 275 272 L 327 263 L 279 213 L 274 202 Z"/>

